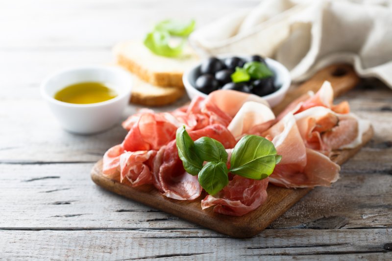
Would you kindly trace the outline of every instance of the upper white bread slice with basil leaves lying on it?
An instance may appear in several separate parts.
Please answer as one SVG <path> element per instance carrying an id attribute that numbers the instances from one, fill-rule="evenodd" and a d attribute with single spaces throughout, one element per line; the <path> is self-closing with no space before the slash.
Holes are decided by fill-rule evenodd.
<path id="1" fill-rule="evenodd" d="M 185 47 L 180 57 L 170 58 L 152 53 L 142 40 L 121 42 L 113 51 L 118 64 L 160 87 L 184 88 L 182 74 L 199 61 L 191 47 Z"/>

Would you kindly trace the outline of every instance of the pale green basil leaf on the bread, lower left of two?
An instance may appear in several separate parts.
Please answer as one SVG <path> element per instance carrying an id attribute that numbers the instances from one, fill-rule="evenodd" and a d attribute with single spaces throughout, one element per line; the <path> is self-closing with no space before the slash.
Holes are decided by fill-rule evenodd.
<path id="1" fill-rule="evenodd" d="M 182 53 L 182 49 L 185 44 L 185 40 L 176 46 L 171 47 L 169 45 L 170 34 L 167 31 L 152 31 L 149 32 L 144 39 L 144 45 L 157 55 L 176 57 Z"/>

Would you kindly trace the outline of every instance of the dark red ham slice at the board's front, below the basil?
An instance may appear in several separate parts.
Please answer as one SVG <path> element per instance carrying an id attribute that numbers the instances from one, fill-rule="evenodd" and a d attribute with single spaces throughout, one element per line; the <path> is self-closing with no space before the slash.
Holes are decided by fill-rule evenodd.
<path id="1" fill-rule="evenodd" d="M 214 212 L 242 216 L 260 207 L 267 200 L 268 178 L 247 179 L 235 175 L 218 195 L 207 195 L 201 208 L 214 207 Z"/>

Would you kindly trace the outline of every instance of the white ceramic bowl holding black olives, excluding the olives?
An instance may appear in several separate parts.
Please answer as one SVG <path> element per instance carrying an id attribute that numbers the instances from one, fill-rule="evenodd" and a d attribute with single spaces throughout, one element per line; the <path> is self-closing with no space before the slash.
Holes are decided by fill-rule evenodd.
<path id="1" fill-rule="evenodd" d="M 218 55 L 217 57 L 219 59 L 224 59 L 233 56 L 246 58 L 245 55 L 232 55 L 232 54 Z M 272 60 L 270 58 L 265 58 L 265 61 L 268 67 L 271 69 L 271 71 L 273 71 L 273 73 L 275 74 L 275 81 L 274 81 L 275 86 L 279 87 L 279 89 L 276 92 L 270 95 L 263 96 L 263 98 L 268 101 L 270 106 L 273 107 L 279 104 L 279 102 L 281 102 L 284 96 L 286 95 L 291 84 L 291 77 L 289 71 L 281 63 Z M 195 96 L 202 96 L 202 97 L 207 96 L 206 94 L 196 90 L 196 88 L 194 87 L 197 76 L 199 74 L 199 70 L 200 70 L 200 64 L 186 71 L 182 76 L 182 81 L 184 82 L 185 90 L 189 98 L 191 99 L 194 98 Z"/>

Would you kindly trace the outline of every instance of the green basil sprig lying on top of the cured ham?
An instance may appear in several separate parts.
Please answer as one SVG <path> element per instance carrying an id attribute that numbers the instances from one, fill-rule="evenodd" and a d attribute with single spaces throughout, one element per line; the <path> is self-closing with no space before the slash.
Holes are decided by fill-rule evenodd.
<path id="1" fill-rule="evenodd" d="M 228 184 L 228 172 L 249 179 L 265 179 L 282 158 L 269 140 L 246 135 L 235 145 L 230 169 L 227 169 L 228 154 L 221 142 L 209 137 L 194 142 L 185 126 L 177 129 L 176 145 L 185 170 L 192 175 L 198 174 L 200 186 L 210 195 L 218 193 Z M 204 162 L 207 163 L 203 166 Z"/>

